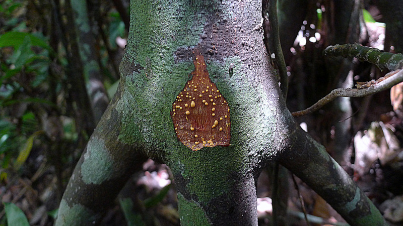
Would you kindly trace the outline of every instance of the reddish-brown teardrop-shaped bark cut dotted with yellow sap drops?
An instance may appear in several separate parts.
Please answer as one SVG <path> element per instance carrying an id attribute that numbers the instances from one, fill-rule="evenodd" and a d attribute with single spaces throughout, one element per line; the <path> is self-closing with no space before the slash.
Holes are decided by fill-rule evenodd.
<path id="1" fill-rule="evenodd" d="M 229 146 L 230 108 L 212 82 L 202 55 L 193 60 L 192 79 L 176 96 L 171 118 L 178 140 L 193 151 L 203 147 Z"/>

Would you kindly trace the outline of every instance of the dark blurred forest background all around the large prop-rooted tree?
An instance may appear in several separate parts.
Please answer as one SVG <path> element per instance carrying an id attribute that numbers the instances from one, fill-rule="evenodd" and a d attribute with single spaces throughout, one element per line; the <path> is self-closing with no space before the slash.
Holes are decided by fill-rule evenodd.
<path id="1" fill-rule="evenodd" d="M 310 106 L 335 87 L 353 87 L 357 81 L 386 73 L 353 60 L 348 74 L 328 74 L 324 68 L 328 59 L 322 50 L 336 44 L 329 40 L 334 42 L 341 36 L 328 26 L 332 15 L 341 9 L 334 4 L 337 1 L 301 2 L 305 13 L 294 15 L 301 23 L 287 25 L 297 29 L 281 28 L 290 73 L 287 102 L 291 111 Z M 401 52 L 394 30 L 388 27 L 385 33 L 385 24 L 381 24 L 390 23 L 385 4 L 356 2 L 366 9 L 359 9 L 362 20 L 353 24 L 359 26 L 358 42 Z M 0 225 L 19 214 L 19 209 L 7 203 L 15 203 L 32 225 L 52 225 L 62 192 L 105 109 L 97 100 L 107 102 L 116 89 L 129 23 L 128 0 L 87 1 L 89 41 L 80 38 L 73 5 L 57 0 L 0 2 Z M 399 17 L 395 20 L 401 21 Z M 92 52 L 84 58 L 80 48 L 88 43 Z M 98 68 L 95 75 L 86 71 L 94 62 Z M 99 92 L 93 92 L 94 84 Z M 346 98 L 297 119 L 396 225 L 403 220 L 402 213 L 398 214 L 403 212 L 402 89 L 398 85 L 392 94 L 388 90 L 365 98 Z M 348 110 L 341 113 L 344 104 Z M 116 205 L 105 214 L 102 224 L 179 224 L 169 170 L 151 160 L 143 168 L 144 172 L 133 175 L 121 191 L 120 196 L 129 196 L 132 201 L 111 200 Z M 270 177 L 263 171 L 257 184 L 261 225 L 270 225 Z M 284 191 L 290 193 L 291 225 L 307 224 L 301 205 L 323 222 L 344 221 L 298 178 L 293 181 L 290 177 L 290 184 L 298 185 L 298 190 L 290 186 Z"/>

